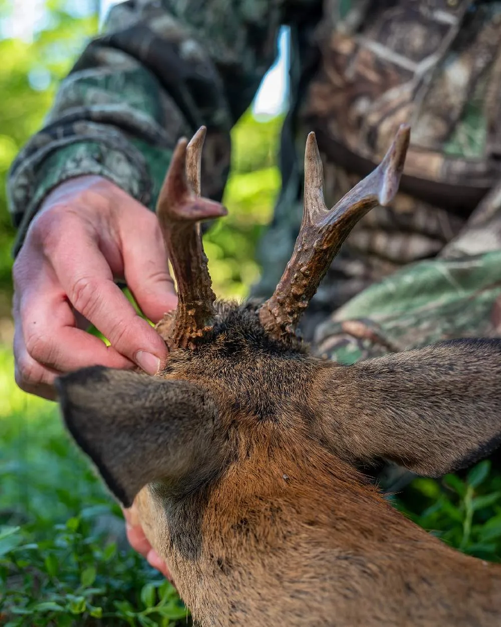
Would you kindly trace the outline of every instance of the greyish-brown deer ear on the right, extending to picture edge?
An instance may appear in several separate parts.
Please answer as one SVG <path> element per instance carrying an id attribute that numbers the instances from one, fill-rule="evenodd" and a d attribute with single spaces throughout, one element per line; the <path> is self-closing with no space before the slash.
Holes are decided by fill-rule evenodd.
<path id="1" fill-rule="evenodd" d="M 351 460 L 385 457 L 438 477 L 501 444 L 501 340 L 442 342 L 321 379 L 320 428 Z"/>

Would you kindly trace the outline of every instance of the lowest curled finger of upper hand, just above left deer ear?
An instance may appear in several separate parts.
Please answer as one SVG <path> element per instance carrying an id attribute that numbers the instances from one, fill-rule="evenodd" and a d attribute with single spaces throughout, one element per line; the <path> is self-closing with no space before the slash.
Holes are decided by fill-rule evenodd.
<path id="1" fill-rule="evenodd" d="M 39 364 L 61 373 L 96 364 L 132 367 L 130 360 L 98 337 L 75 327 L 75 315 L 51 268 L 16 303 L 26 351 Z"/>

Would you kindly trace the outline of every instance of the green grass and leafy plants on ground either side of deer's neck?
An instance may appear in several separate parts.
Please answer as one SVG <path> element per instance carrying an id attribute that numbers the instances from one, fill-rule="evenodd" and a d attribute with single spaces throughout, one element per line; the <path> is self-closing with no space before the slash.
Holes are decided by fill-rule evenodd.
<path id="1" fill-rule="evenodd" d="M 63 431 L 54 404 L 12 384 L 0 347 L 0 624 L 187 624 L 168 582 L 123 541 L 120 509 Z M 501 557 L 501 475 L 416 479 L 391 500 L 469 554 Z"/>

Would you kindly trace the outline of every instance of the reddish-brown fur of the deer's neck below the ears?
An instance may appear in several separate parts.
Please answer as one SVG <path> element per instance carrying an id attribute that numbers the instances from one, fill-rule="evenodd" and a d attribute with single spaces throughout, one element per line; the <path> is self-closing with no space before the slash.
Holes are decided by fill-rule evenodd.
<path id="1" fill-rule="evenodd" d="M 497 566 L 419 529 L 299 430 L 267 423 L 240 438 L 237 458 L 196 493 L 138 495 L 200 624 L 498 625 L 483 613 L 486 598 L 501 611 Z"/>

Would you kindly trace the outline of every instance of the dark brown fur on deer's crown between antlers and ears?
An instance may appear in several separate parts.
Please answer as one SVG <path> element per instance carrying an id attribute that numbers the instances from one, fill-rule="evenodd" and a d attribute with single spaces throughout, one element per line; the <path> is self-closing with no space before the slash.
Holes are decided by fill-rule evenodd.
<path id="1" fill-rule="evenodd" d="M 303 402 L 299 397 L 311 386 L 316 360 L 297 337 L 270 337 L 259 322 L 259 303 L 220 302 L 217 307 L 213 329 L 195 350 L 173 350 L 161 376 L 203 385 L 233 415 L 280 421 L 291 403 Z"/>

